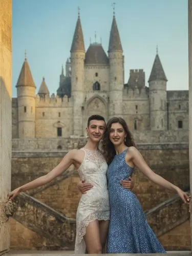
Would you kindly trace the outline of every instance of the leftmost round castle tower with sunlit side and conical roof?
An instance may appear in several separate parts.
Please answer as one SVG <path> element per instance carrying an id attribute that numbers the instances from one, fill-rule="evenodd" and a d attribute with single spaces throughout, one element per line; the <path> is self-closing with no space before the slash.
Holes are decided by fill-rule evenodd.
<path id="1" fill-rule="evenodd" d="M 16 88 L 18 101 L 18 136 L 19 138 L 34 138 L 36 87 L 26 57 L 18 77 Z"/>

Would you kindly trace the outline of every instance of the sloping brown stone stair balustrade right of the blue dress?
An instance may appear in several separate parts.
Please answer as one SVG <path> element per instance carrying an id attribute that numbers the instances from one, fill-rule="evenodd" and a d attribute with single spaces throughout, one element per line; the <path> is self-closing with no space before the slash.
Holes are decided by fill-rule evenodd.
<path id="1" fill-rule="evenodd" d="M 189 192 L 188 189 L 187 192 Z M 145 211 L 145 215 L 158 237 L 189 219 L 188 207 L 179 196 L 170 198 L 153 209 Z"/>

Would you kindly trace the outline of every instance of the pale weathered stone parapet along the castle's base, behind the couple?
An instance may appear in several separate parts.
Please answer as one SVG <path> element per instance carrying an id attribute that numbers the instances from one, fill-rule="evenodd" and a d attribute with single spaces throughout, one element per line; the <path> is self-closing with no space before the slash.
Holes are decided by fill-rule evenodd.
<path id="1" fill-rule="evenodd" d="M 134 132 L 133 137 L 136 144 L 188 144 L 188 130 Z M 83 147 L 86 142 L 85 137 L 12 139 L 12 151 L 68 152 Z"/>

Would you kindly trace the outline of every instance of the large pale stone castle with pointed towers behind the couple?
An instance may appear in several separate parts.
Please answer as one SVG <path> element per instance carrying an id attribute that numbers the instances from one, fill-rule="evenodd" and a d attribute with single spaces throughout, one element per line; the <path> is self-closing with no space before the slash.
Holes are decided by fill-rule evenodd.
<path id="1" fill-rule="evenodd" d="M 99 114 L 106 120 L 123 117 L 132 132 L 187 131 L 188 91 L 167 91 L 167 78 L 158 52 L 148 87 L 142 69 L 130 70 L 124 83 L 124 56 L 115 15 L 108 54 L 101 44 L 84 48 L 80 16 L 71 56 L 60 74 L 57 95 L 50 95 L 45 78 L 36 86 L 25 58 L 12 99 L 12 138 L 84 137 L 87 119 Z"/>

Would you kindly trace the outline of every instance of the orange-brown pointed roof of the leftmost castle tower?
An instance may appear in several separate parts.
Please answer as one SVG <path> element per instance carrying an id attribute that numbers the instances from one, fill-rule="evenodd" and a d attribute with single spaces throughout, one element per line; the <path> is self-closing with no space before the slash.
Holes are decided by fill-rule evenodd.
<path id="1" fill-rule="evenodd" d="M 35 87 L 35 83 L 33 81 L 33 77 L 31 74 L 31 70 L 29 68 L 29 64 L 27 61 L 27 53 L 25 51 L 25 61 L 22 66 L 22 70 L 20 71 L 16 87 L 18 86 L 32 86 Z M 35 87 L 36 88 L 36 87 Z"/>

